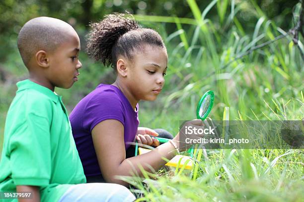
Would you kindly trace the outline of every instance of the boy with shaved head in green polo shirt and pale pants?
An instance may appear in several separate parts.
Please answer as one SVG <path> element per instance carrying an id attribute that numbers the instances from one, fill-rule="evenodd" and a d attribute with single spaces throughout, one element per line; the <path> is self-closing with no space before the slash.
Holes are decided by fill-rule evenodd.
<path id="1" fill-rule="evenodd" d="M 17 83 L 6 117 L 0 201 L 17 201 L 9 200 L 8 192 L 31 193 L 31 201 L 134 201 L 120 185 L 82 184 L 68 113 L 54 92 L 78 80 L 80 42 L 74 28 L 59 19 L 34 18 L 22 27 L 18 49 L 29 79 Z"/>

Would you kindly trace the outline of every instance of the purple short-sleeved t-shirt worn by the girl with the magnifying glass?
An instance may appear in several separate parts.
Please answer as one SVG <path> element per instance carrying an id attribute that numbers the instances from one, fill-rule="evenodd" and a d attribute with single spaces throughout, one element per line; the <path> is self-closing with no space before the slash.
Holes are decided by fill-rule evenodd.
<path id="1" fill-rule="evenodd" d="M 127 150 L 130 145 L 126 143 L 134 142 L 139 125 L 138 104 L 135 111 L 116 86 L 98 85 L 94 91 L 79 101 L 70 115 L 72 132 L 85 176 L 101 174 L 91 131 L 98 123 L 107 119 L 116 119 L 123 124 Z"/>

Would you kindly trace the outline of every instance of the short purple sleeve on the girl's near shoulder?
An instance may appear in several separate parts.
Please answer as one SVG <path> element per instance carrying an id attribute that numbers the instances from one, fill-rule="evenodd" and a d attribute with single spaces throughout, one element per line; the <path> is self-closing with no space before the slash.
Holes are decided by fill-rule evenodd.
<path id="1" fill-rule="evenodd" d="M 114 91 L 104 91 L 87 102 L 83 114 L 83 128 L 91 133 L 98 123 L 107 119 L 118 120 L 124 125 L 124 114 L 119 96 Z"/>

